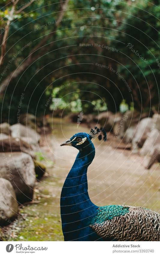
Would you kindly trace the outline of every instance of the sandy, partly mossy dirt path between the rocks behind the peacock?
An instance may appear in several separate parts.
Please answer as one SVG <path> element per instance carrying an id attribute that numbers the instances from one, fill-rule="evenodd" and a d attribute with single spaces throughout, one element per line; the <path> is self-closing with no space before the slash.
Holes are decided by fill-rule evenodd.
<path id="1" fill-rule="evenodd" d="M 41 160 L 47 165 L 47 175 L 37 182 L 34 201 L 20 207 L 14 224 L 4 227 L 7 241 L 63 241 L 60 194 L 77 150 L 59 145 L 80 131 L 89 132 L 89 129 L 61 124 L 59 119 L 54 119 L 52 133 L 41 142 Z M 147 159 L 128 150 L 114 149 L 110 135 L 106 143 L 95 140 L 94 144 L 96 155 L 88 169 L 89 195 L 93 203 L 137 205 L 160 212 L 160 166 L 155 164 L 145 170 Z"/>

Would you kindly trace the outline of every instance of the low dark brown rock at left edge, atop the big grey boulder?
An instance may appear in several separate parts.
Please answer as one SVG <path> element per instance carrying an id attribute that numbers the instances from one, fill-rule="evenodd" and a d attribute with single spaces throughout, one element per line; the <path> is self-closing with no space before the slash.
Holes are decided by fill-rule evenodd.
<path id="1" fill-rule="evenodd" d="M 23 141 L 18 138 L 8 137 L 0 140 L 0 152 L 22 151 L 32 155 L 32 150 L 33 150 L 32 145 L 29 145 L 26 141 Z"/>

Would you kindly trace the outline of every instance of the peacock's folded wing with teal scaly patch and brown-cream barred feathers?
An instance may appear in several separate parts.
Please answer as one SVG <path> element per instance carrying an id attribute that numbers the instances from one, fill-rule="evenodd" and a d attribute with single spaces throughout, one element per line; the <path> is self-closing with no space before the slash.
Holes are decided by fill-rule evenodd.
<path id="1" fill-rule="evenodd" d="M 160 241 L 160 214 L 142 207 L 99 207 L 90 227 L 106 241 Z"/>

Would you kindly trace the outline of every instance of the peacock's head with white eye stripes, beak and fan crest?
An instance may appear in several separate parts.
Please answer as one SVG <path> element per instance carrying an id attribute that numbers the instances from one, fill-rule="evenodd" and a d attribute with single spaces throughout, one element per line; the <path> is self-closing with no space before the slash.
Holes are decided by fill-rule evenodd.
<path id="1" fill-rule="evenodd" d="M 86 148 L 89 144 L 92 144 L 92 138 L 98 137 L 98 140 L 101 141 L 102 137 L 103 140 L 107 140 L 107 134 L 104 128 L 97 128 L 95 126 L 94 129 L 91 129 L 90 133 L 86 132 L 79 132 L 74 134 L 69 140 L 64 141 L 60 146 L 71 146 L 75 147 L 78 150 L 82 151 L 84 148 Z"/>

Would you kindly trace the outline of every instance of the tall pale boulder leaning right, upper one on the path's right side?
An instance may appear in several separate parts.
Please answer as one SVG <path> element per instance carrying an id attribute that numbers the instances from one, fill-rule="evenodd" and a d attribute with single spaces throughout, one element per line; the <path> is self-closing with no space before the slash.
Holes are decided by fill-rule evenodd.
<path id="1" fill-rule="evenodd" d="M 152 129 L 154 129 L 152 118 L 149 117 L 140 120 L 132 139 L 132 148 L 134 152 L 138 151 L 138 147 L 143 146 Z"/>

